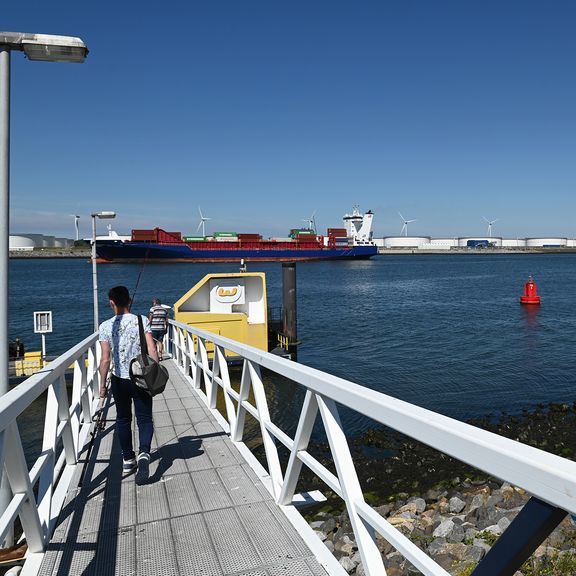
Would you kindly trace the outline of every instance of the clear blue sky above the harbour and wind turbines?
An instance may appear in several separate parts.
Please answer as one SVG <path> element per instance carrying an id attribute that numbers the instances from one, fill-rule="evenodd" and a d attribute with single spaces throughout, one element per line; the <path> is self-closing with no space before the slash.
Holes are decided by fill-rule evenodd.
<path id="1" fill-rule="evenodd" d="M 12 2 L 11 232 L 576 235 L 572 0 Z M 100 225 L 104 229 L 103 223 Z"/>

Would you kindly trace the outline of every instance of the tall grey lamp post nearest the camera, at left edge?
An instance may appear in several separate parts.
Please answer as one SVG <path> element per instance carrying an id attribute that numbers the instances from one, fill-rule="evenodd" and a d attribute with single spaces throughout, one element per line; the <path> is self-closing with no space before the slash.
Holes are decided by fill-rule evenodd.
<path id="1" fill-rule="evenodd" d="M 10 249 L 10 53 L 24 52 L 28 60 L 81 64 L 88 48 L 80 38 L 0 32 L 0 396 L 8 392 L 8 258 Z M 0 514 L 11 500 L 3 478 Z M 10 546 L 12 536 L 5 544 Z M 2 542 L 0 542 L 2 545 Z"/>

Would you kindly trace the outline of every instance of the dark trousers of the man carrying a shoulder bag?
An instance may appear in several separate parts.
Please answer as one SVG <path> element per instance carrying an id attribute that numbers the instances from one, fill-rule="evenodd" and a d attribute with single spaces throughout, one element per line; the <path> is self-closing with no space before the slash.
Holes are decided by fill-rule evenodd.
<path id="1" fill-rule="evenodd" d="M 110 387 L 116 404 L 116 430 L 124 460 L 135 457 L 132 444 L 132 402 L 138 422 L 140 452 L 150 453 L 154 423 L 152 422 L 152 397 L 128 378 L 112 375 Z"/>

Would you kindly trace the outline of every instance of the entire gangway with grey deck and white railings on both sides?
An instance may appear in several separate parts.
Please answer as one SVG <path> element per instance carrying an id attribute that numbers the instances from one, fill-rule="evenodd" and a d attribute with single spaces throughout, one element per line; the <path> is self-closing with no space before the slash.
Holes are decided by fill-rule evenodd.
<path id="1" fill-rule="evenodd" d="M 158 456 L 150 485 L 119 477 L 113 406 L 86 457 L 98 405 L 97 334 L 0 398 L 0 464 L 14 494 L 0 518 L 0 539 L 19 517 L 29 546 L 22 574 L 342 575 L 298 511 L 296 486 L 305 466 L 343 499 L 365 574 L 386 574 L 379 536 L 421 573 L 447 576 L 365 501 L 340 406 L 532 495 L 475 576 L 513 574 L 567 513 L 576 513 L 575 462 L 185 324 L 170 321 L 169 340 L 171 387 L 155 400 Z M 237 379 L 230 355 L 242 358 Z M 64 370 L 71 363 L 69 404 Z M 274 422 L 266 375 L 303 391 L 293 437 Z M 46 390 L 43 451 L 28 470 L 16 418 Z M 258 423 L 263 463 L 243 442 L 248 415 Z M 308 450 L 317 421 L 335 473 Z M 279 446 L 289 454 L 285 467 Z"/>

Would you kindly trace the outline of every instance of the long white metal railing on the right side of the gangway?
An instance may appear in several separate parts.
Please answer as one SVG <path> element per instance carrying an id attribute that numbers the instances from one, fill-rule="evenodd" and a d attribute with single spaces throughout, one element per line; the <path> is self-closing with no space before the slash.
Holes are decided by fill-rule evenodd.
<path id="1" fill-rule="evenodd" d="M 271 484 L 269 489 L 277 504 L 286 506 L 292 502 L 302 465 L 307 466 L 343 498 L 362 564 L 369 576 L 386 574 L 376 545 L 376 533 L 423 574 L 449 574 L 364 500 L 340 422 L 338 405 L 355 410 L 440 452 L 524 488 L 548 504 L 576 513 L 576 462 L 172 320 L 169 340 L 178 366 L 191 378 L 192 385 L 202 393 L 207 405 L 214 411 L 218 387 L 223 390 L 225 415 L 222 416 L 226 418 L 232 441 L 242 442 L 247 413 L 260 423 Z M 208 342 L 211 344 L 207 349 Z M 242 359 L 239 391 L 234 390 L 231 384 L 226 351 Z M 262 368 L 292 380 L 305 390 L 294 438 L 285 434 L 272 421 L 262 381 Z M 254 404 L 249 401 L 250 391 Z M 326 431 L 336 475 L 308 452 L 318 415 Z M 283 444 L 290 452 L 284 474 L 277 443 Z"/>

